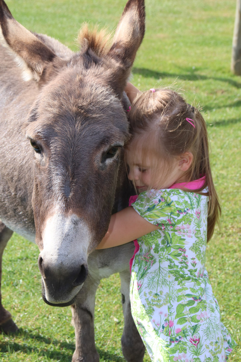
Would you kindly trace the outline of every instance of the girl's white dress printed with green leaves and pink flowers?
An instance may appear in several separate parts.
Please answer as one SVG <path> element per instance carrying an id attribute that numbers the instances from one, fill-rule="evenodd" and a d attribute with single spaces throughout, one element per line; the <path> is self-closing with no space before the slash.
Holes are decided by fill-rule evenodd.
<path id="1" fill-rule="evenodd" d="M 130 285 L 132 315 L 152 361 L 226 361 L 236 344 L 205 269 L 207 201 L 166 189 L 143 192 L 132 204 L 159 226 L 138 239 Z"/>

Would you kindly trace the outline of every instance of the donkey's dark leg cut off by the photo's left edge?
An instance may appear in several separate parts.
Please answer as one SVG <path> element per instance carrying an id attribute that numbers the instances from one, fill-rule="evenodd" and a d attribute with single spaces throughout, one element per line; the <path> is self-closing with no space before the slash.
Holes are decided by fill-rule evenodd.
<path id="1" fill-rule="evenodd" d="M 2 258 L 5 246 L 12 236 L 12 233 L 12 230 L 5 226 L 0 220 L 0 331 L 3 331 L 6 334 L 18 331 L 18 327 L 12 320 L 11 314 L 5 310 L 1 302 Z"/>

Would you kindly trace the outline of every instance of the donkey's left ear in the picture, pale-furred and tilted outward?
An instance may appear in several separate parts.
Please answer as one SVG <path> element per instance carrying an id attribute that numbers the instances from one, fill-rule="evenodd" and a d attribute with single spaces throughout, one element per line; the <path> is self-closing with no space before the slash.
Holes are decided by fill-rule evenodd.
<path id="1" fill-rule="evenodd" d="M 19 24 L 0 0 L 0 43 L 23 70 L 23 79 L 39 81 L 44 68 L 56 55 L 29 30 Z"/>

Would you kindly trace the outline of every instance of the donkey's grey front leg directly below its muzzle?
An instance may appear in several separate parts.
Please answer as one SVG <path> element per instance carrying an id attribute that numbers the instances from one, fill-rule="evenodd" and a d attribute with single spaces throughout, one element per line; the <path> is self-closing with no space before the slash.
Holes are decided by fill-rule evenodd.
<path id="1" fill-rule="evenodd" d="M 99 362 L 94 334 L 95 293 L 98 285 L 99 280 L 92 279 L 89 274 L 76 302 L 71 306 L 76 338 L 72 362 Z"/>

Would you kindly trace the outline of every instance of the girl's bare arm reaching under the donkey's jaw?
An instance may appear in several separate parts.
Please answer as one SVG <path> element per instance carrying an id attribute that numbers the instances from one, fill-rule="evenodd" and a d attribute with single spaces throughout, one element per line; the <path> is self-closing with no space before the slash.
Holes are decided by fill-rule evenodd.
<path id="1" fill-rule="evenodd" d="M 96 249 L 126 244 L 157 229 L 158 226 L 149 223 L 129 206 L 111 216 L 108 231 Z"/>

